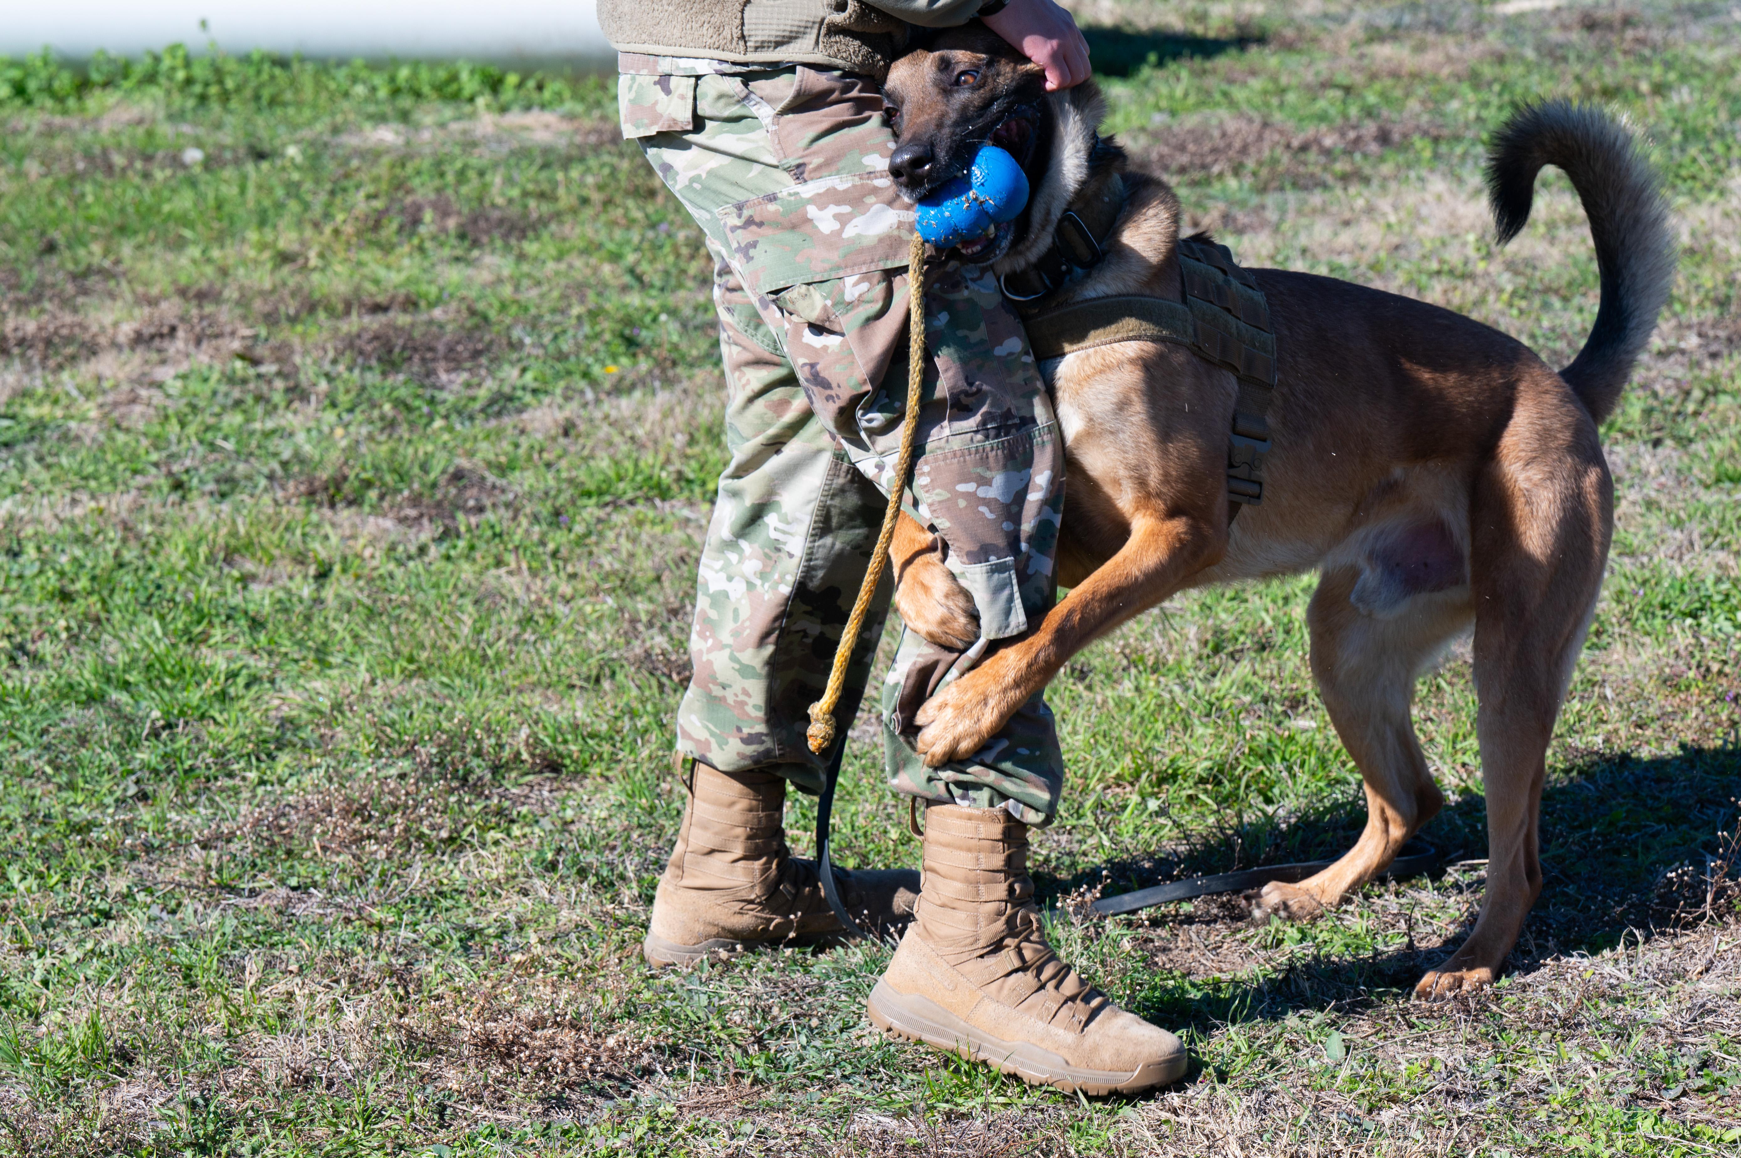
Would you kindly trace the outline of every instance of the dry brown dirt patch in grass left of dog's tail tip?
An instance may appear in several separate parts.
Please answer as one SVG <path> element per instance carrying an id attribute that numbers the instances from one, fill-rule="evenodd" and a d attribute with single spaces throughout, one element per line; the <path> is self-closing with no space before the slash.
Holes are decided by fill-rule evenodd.
<path id="1" fill-rule="evenodd" d="M 1139 165 L 1173 179 L 1254 172 L 1260 188 L 1294 185 L 1313 188 L 1334 179 L 1325 162 L 1379 153 L 1450 132 L 1424 120 L 1344 122 L 1323 129 L 1231 117 L 1215 122 L 1156 125 L 1132 134 L 1130 153 Z"/>

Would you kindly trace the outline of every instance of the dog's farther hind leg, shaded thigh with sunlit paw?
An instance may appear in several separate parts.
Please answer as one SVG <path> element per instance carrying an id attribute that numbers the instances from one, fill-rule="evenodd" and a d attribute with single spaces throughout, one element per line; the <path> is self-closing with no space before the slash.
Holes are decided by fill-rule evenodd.
<path id="1" fill-rule="evenodd" d="M 1459 552 L 1459 569 L 1461 562 Z M 1358 568 L 1328 571 L 1306 618 L 1318 691 L 1365 782 L 1367 827 L 1323 872 L 1299 885 L 1264 886 L 1259 914 L 1304 919 L 1335 906 L 1351 888 L 1384 872 L 1445 803 L 1415 740 L 1410 705 L 1415 677 L 1469 627 L 1469 590 L 1457 585 L 1415 594 L 1379 616 L 1358 606 L 1360 582 Z"/>

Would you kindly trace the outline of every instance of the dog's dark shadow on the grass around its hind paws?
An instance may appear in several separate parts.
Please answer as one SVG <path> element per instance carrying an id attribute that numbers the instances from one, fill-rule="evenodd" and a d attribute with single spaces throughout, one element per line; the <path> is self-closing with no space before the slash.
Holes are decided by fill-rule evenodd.
<path id="1" fill-rule="evenodd" d="M 1673 756 L 1591 756 L 1553 778 L 1543 792 L 1543 893 L 1530 911 L 1508 973 L 1529 973 L 1541 963 L 1574 953 L 1602 953 L 1623 937 L 1650 940 L 1687 928 L 1704 904 L 1708 862 L 1734 832 L 1741 805 L 1741 745 L 1685 747 Z M 1140 888 L 1161 879 L 1233 867 L 1330 857 L 1346 850 L 1365 822 L 1360 799 L 1262 827 L 1217 834 L 1177 860 L 1128 860 L 1106 869 L 1118 885 Z M 1487 805 L 1468 794 L 1435 817 L 1421 836 L 1442 852 L 1476 860 L 1487 853 Z M 1734 869 L 1731 869 L 1731 878 Z M 1083 886 L 1099 871 L 1057 881 L 1053 895 Z M 1295 961 L 1257 984 L 1236 984 L 1193 1008 L 1144 1010 L 1173 1020 L 1208 1024 L 1267 1020 L 1301 1008 L 1360 1008 L 1381 991 L 1408 989 L 1438 965 L 1473 926 L 1483 883 L 1468 890 L 1464 926 L 1445 947 L 1412 947 L 1370 956 L 1314 956 Z M 1180 921 L 1238 921 L 1236 897 L 1198 904 Z M 1732 902 L 1731 902 L 1732 904 Z"/>

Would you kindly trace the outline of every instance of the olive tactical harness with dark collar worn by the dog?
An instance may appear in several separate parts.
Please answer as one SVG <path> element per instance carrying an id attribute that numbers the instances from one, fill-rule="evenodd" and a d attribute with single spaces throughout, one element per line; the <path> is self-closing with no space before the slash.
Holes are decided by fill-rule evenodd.
<path id="1" fill-rule="evenodd" d="M 1086 205 L 1059 219 L 1052 247 L 1029 268 L 1008 273 L 1003 293 L 1022 313 L 1027 341 L 1041 362 L 1118 341 L 1170 341 L 1233 371 L 1240 397 L 1227 434 L 1229 521 L 1240 507 L 1264 502 L 1264 458 L 1269 454 L 1269 401 L 1276 388 L 1276 336 L 1269 303 L 1257 279 L 1234 263 L 1208 233 L 1179 242 L 1184 301 L 1116 294 L 1048 306 L 1071 273 L 1090 270 L 1106 256 L 1125 204 L 1125 183 L 1114 178 Z"/>

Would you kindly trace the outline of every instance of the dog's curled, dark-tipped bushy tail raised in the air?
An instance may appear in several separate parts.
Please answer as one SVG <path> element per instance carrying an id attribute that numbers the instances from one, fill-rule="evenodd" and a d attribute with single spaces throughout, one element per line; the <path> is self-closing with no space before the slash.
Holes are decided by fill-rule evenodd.
<path id="1" fill-rule="evenodd" d="M 1607 113 L 1570 101 L 1527 104 L 1494 136 L 1487 153 L 1487 195 L 1501 246 L 1529 221 L 1543 165 L 1558 165 L 1572 179 L 1596 242 L 1596 324 L 1560 376 L 1602 421 L 1619 402 L 1668 301 L 1675 277 L 1668 205 L 1631 132 Z"/>

